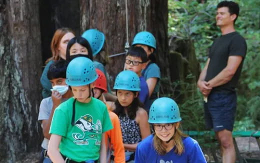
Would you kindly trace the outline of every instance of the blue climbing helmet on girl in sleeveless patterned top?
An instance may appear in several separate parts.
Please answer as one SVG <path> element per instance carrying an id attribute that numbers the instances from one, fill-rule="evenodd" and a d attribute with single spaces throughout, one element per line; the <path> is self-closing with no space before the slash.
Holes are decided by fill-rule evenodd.
<path id="1" fill-rule="evenodd" d="M 140 79 L 135 72 L 131 70 L 124 70 L 117 74 L 113 88 L 140 91 Z"/>

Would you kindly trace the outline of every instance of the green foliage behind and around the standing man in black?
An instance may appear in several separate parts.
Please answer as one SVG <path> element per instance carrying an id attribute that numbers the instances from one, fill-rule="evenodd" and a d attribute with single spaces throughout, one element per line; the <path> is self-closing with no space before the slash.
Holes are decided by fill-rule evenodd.
<path id="1" fill-rule="evenodd" d="M 168 0 L 168 33 L 171 37 L 193 40 L 196 57 L 202 68 L 209 47 L 221 34 L 215 25 L 216 5 L 220 1 L 222 0 L 206 0 L 205 3 L 198 3 L 196 0 Z M 237 87 L 237 115 L 234 128 L 260 129 L 260 0 L 234 1 L 240 7 L 235 28 L 247 42 L 247 54 Z M 171 86 L 175 89 L 179 87 L 178 84 L 185 85 L 185 82 L 176 81 Z M 185 91 L 181 86 L 178 94 Z M 179 103 L 181 108 L 185 108 L 181 116 L 187 120 L 183 122 L 183 128 L 200 130 L 204 126 L 202 95 L 199 92 L 194 92 L 193 95 L 192 98 Z"/>

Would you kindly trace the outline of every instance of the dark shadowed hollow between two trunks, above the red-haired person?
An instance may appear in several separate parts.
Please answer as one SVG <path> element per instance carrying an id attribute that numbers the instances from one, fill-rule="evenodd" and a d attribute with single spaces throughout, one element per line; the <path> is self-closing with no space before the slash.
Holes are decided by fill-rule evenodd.
<path id="1" fill-rule="evenodd" d="M 50 42 L 57 28 L 69 27 L 80 34 L 79 0 L 39 0 L 42 60 L 51 57 Z"/>

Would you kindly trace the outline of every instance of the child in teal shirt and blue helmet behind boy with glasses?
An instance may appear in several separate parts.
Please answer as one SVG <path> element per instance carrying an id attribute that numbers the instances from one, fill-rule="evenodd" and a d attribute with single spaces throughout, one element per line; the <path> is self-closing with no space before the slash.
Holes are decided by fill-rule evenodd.
<path id="1" fill-rule="evenodd" d="M 142 47 L 149 59 L 146 62 L 146 67 L 142 70 L 142 76 L 144 76 L 149 89 L 149 100 L 144 105 L 145 108 L 150 108 L 151 103 L 158 97 L 159 93 L 160 69 L 155 63 L 156 40 L 150 32 L 141 31 L 134 36 L 132 46 Z"/>

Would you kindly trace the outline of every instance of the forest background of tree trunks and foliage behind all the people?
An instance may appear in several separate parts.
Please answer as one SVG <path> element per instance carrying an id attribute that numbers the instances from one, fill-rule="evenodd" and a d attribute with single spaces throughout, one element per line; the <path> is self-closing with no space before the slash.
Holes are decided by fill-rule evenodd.
<path id="1" fill-rule="evenodd" d="M 126 14 L 129 41 L 141 30 L 156 38 L 160 96 L 177 101 L 184 130 L 205 129 L 196 81 L 208 48 L 220 35 L 215 7 L 221 0 L 128 0 L 128 13 L 125 1 L 0 0 L 0 162 L 16 162 L 26 152 L 40 149 L 42 133 L 36 118 L 42 99 L 39 77 L 41 65 L 51 56 L 49 44 L 55 29 L 67 26 L 76 34 L 87 28 L 103 31 L 107 53 L 96 59 L 106 64 L 112 85 L 122 70 L 124 55 L 109 55 L 123 51 Z M 259 130 L 260 1 L 234 1 L 240 6 L 235 28 L 247 42 L 234 130 Z M 197 140 L 205 149 L 212 146 L 212 138 Z"/>

